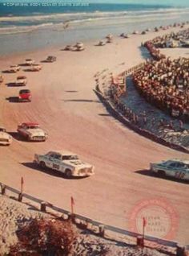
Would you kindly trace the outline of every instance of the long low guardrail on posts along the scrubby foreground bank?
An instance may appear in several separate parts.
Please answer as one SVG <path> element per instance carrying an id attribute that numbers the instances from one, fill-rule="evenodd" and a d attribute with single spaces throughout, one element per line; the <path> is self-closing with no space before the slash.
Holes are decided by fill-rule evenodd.
<path id="1" fill-rule="evenodd" d="M 161 239 L 159 237 L 151 237 L 151 236 L 147 236 L 147 235 L 144 235 L 144 237 L 143 237 L 139 233 L 131 232 L 126 229 L 120 229 L 118 227 L 114 227 L 111 225 L 105 225 L 102 222 L 91 220 L 88 217 L 83 217 L 82 215 L 79 215 L 79 214 L 70 213 L 69 211 L 67 211 L 65 209 L 61 209 L 53 204 L 50 204 L 49 202 L 46 202 L 45 200 L 41 200 L 34 196 L 30 196 L 26 193 L 22 193 L 18 189 L 11 188 L 10 186 L 7 186 L 6 184 L 0 183 L 0 186 L 1 186 L 2 195 L 6 196 L 6 191 L 10 191 L 18 196 L 18 201 L 22 201 L 22 199 L 25 197 L 26 199 L 32 200 L 35 203 L 40 204 L 39 210 L 42 211 L 43 213 L 50 213 L 47 211 L 47 208 L 49 208 L 49 209 L 53 209 L 56 213 L 63 214 L 63 218 L 65 220 L 70 219 L 71 221 L 73 221 L 74 224 L 78 225 L 78 227 L 82 226 L 82 228 L 92 231 L 90 228 L 91 225 L 95 226 L 99 229 L 99 232 L 97 232 L 97 234 L 101 237 L 106 237 L 106 232 L 111 231 L 113 233 L 118 233 L 123 236 L 135 237 L 136 238 L 135 244 L 137 246 L 144 246 L 144 241 L 147 241 L 147 242 L 151 242 L 153 244 L 159 245 L 159 246 L 167 246 L 169 248 L 171 247 L 172 249 L 176 250 L 175 253 L 177 256 L 186 256 L 187 247 L 180 245 L 177 242 L 167 241 L 167 240 Z M 89 227 L 89 225 L 90 225 L 90 227 Z M 148 246 L 148 247 L 153 247 L 153 246 Z M 161 250 L 165 251 L 165 248 L 161 248 Z"/>

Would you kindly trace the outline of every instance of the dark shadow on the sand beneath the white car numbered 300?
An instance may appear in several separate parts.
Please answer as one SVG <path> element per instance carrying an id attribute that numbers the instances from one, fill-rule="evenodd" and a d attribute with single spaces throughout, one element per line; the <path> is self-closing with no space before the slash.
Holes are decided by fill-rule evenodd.
<path id="1" fill-rule="evenodd" d="M 55 176 L 55 177 L 64 178 L 66 180 L 82 180 L 82 179 L 86 178 L 86 177 L 71 177 L 70 179 L 68 179 L 66 177 L 66 175 L 64 175 L 62 172 L 52 170 L 49 167 L 42 168 L 37 163 L 26 162 L 26 163 L 21 163 L 21 164 L 25 167 L 28 167 L 28 168 L 34 170 L 34 171 L 41 171 L 41 172 L 46 173 L 47 175 L 52 175 L 52 176 Z"/>

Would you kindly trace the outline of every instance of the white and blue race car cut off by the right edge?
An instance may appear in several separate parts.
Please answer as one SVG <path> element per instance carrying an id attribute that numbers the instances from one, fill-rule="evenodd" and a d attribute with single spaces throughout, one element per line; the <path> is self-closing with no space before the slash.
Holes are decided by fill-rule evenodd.
<path id="1" fill-rule="evenodd" d="M 150 163 L 151 171 L 166 177 L 189 180 L 189 160 L 170 159 L 161 163 Z"/>

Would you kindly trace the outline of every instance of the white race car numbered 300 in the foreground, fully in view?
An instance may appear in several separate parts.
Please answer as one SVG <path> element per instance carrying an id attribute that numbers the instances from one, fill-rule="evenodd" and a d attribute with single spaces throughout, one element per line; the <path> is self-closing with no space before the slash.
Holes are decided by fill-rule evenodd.
<path id="1" fill-rule="evenodd" d="M 94 167 L 89 163 L 84 163 L 78 159 L 78 155 L 66 151 L 49 151 L 46 155 L 34 155 L 34 163 L 38 163 L 42 168 L 50 167 L 60 171 L 66 178 L 72 176 L 94 175 Z"/>

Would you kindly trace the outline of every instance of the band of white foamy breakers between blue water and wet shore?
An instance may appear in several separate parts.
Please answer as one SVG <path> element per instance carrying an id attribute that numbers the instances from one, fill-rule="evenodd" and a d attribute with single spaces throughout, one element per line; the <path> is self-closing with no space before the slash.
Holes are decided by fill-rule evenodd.
<path id="1" fill-rule="evenodd" d="M 170 15 L 171 13 L 171 15 Z M 169 8 L 158 10 L 135 10 L 135 11 L 117 11 L 117 12 L 82 12 L 75 14 L 48 14 L 48 15 L 33 15 L 24 17 L 0 17 L 0 34 L 16 34 L 26 33 L 35 30 L 46 28 L 67 28 L 66 24 L 71 26 L 84 25 L 85 23 L 100 25 L 100 22 L 107 22 L 108 24 L 121 23 L 151 23 L 151 21 L 177 19 L 181 15 L 189 14 L 189 8 Z M 63 19 L 63 17 L 65 19 Z M 9 23 L 10 21 L 10 23 Z M 27 22 L 27 23 L 24 23 Z M 33 23 L 32 23 L 33 22 Z M 6 23 L 6 24 L 4 24 Z M 69 28 L 68 27 L 68 28 Z"/>

